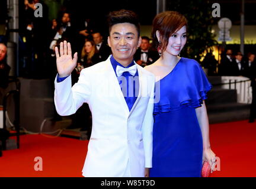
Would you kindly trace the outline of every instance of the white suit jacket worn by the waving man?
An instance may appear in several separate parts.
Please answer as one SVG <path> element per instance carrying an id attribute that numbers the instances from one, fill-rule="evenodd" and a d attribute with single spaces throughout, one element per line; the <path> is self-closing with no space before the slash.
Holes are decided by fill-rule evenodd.
<path id="1" fill-rule="evenodd" d="M 155 77 L 139 65 L 139 95 L 129 112 L 116 73 L 106 61 L 83 69 L 71 88 L 71 76 L 55 80 L 55 106 L 62 116 L 88 103 L 92 133 L 82 170 L 84 177 L 144 177 L 152 167 L 153 98 Z"/>

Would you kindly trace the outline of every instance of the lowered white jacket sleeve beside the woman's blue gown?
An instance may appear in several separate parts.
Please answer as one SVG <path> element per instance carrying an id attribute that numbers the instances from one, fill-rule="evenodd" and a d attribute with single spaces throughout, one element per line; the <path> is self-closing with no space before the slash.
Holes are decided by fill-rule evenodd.
<path id="1" fill-rule="evenodd" d="M 152 167 L 152 152 L 153 152 L 153 106 L 155 94 L 155 79 L 153 80 L 151 96 L 148 107 L 146 109 L 145 118 L 142 123 L 143 146 L 145 151 L 145 167 Z"/>

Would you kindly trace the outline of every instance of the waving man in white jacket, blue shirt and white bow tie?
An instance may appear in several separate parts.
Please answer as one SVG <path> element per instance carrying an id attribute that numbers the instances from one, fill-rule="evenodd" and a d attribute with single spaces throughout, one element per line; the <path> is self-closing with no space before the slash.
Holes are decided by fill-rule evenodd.
<path id="1" fill-rule="evenodd" d="M 155 78 L 133 61 L 140 46 L 139 21 L 132 11 L 111 12 L 108 45 L 113 55 L 81 71 L 71 87 L 71 44 L 56 47 L 57 112 L 71 115 L 85 102 L 92 112 L 92 133 L 84 177 L 148 177 L 152 167 Z"/>

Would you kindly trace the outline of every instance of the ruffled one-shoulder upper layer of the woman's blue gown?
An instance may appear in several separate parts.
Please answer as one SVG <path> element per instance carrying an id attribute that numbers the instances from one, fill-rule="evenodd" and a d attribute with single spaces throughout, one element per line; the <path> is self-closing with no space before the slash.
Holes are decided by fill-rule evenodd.
<path id="1" fill-rule="evenodd" d="M 155 103 L 154 115 L 184 106 L 200 107 L 212 84 L 196 60 L 182 58 L 168 76 L 156 83 L 155 89 L 159 90 L 160 98 Z"/>

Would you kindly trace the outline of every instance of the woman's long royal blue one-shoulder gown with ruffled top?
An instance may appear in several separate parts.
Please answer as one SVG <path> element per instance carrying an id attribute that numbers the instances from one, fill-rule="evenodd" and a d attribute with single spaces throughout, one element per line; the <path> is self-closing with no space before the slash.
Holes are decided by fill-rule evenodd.
<path id="1" fill-rule="evenodd" d="M 203 138 L 196 107 L 207 99 L 206 93 L 212 85 L 196 60 L 183 57 L 158 82 L 156 88 L 160 87 L 160 99 L 153 110 L 155 123 L 150 176 L 200 177 Z"/>

